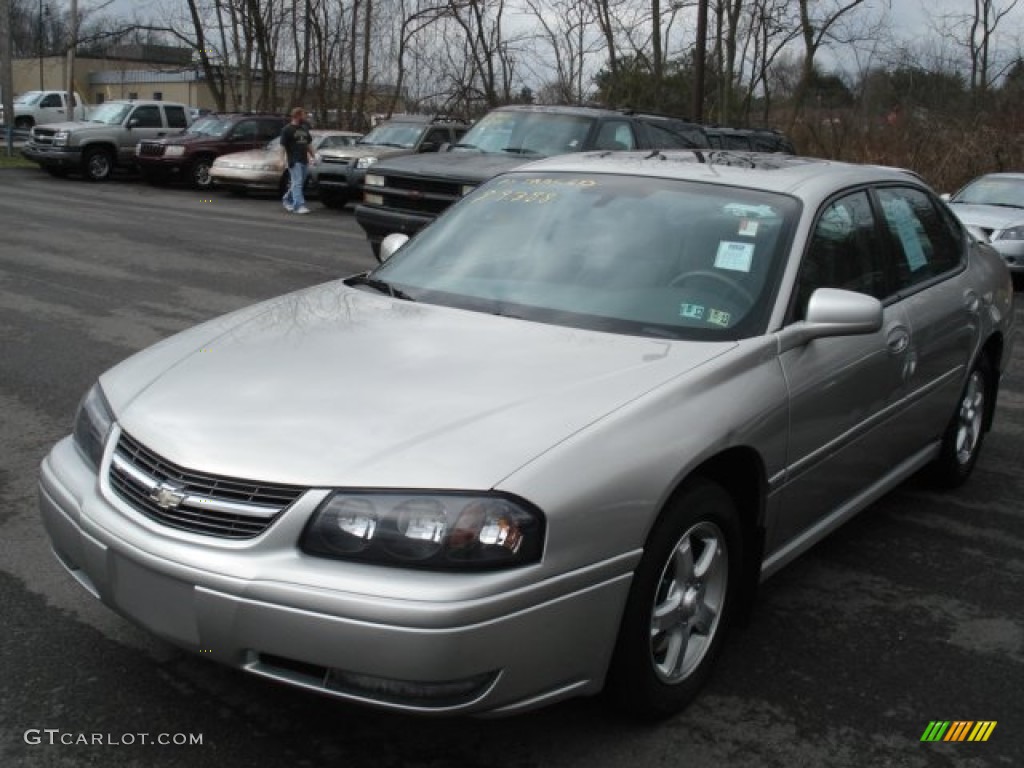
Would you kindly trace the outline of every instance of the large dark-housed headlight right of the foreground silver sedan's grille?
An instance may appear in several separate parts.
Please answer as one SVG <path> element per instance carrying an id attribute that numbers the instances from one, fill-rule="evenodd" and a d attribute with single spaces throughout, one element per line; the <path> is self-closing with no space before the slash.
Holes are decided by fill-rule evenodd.
<path id="1" fill-rule="evenodd" d="M 537 562 L 544 516 L 498 494 L 339 490 L 302 534 L 318 557 L 434 570 L 486 570 Z"/>

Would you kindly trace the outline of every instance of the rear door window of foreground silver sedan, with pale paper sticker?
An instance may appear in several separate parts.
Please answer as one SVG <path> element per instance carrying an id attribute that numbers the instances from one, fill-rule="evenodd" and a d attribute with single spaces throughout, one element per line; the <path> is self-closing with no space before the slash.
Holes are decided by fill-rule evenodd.
<path id="1" fill-rule="evenodd" d="M 963 240 L 921 189 L 883 187 L 879 202 L 895 244 L 894 273 L 900 289 L 954 269 Z"/>

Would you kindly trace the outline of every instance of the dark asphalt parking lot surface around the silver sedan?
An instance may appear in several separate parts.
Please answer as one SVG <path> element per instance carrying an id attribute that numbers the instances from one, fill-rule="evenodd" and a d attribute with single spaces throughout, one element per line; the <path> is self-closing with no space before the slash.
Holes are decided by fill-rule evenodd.
<path id="1" fill-rule="evenodd" d="M 1020 340 L 972 481 L 911 481 L 764 584 L 703 694 L 656 726 L 597 699 L 509 720 L 362 710 L 179 651 L 94 602 L 46 544 L 40 460 L 114 362 L 375 263 L 350 210 L 311 207 L 0 170 L 0 765 L 1024 765 Z M 932 721 L 996 726 L 923 742 Z"/>

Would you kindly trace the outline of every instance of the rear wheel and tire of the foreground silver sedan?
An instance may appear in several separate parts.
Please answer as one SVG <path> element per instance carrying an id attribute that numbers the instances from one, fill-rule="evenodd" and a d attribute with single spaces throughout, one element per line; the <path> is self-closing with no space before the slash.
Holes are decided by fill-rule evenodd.
<path id="1" fill-rule="evenodd" d="M 964 391 L 956 399 L 956 408 L 942 435 L 939 455 L 929 467 L 933 484 L 954 488 L 967 482 L 981 455 L 994 407 L 995 370 L 988 357 L 982 355 L 967 377 Z"/>

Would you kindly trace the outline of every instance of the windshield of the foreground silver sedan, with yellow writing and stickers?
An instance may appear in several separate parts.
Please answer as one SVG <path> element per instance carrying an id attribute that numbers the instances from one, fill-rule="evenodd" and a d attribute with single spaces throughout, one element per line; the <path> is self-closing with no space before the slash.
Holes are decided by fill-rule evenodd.
<path id="1" fill-rule="evenodd" d="M 737 339 L 764 331 L 799 211 L 792 198 L 724 185 L 514 173 L 371 278 L 415 301 L 540 323 Z"/>

